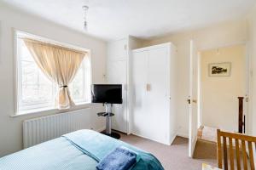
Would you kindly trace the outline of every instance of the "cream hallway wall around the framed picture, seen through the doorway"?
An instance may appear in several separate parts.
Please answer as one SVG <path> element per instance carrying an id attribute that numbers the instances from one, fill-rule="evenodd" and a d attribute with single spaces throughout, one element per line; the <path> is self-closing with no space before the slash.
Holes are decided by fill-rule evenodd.
<path id="1" fill-rule="evenodd" d="M 230 62 L 230 77 L 209 77 L 209 64 Z M 246 48 L 236 45 L 201 52 L 201 124 L 238 131 L 238 99 L 246 94 Z"/>

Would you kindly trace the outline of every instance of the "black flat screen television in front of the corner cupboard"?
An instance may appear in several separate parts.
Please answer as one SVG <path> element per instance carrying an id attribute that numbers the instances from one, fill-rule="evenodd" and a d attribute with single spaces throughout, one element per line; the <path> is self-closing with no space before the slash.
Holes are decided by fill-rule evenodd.
<path id="1" fill-rule="evenodd" d="M 122 104 L 121 84 L 93 84 L 91 88 L 92 103 Z"/>

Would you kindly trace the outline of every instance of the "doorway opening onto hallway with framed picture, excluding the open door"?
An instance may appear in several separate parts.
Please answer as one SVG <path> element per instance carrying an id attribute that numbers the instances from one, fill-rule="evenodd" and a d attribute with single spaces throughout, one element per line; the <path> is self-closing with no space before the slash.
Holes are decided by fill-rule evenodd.
<path id="1" fill-rule="evenodd" d="M 247 49 L 245 44 L 236 44 L 201 50 L 198 59 L 197 137 L 214 142 L 217 128 L 238 132 L 239 114 L 240 125 L 246 122 Z M 243 98 L 242 108 L 238 98 Z"/>

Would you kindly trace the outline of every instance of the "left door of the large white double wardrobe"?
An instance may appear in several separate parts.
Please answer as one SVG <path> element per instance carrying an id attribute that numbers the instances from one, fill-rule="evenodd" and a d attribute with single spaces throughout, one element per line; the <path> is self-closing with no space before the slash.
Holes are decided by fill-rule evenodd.
<path id="1" fill-rule="evenodd" d="M 147 70 L 148 56 L 145 51 L 133 52 L 131 59 L 131 128 L 139 136 L 148 135 Z"/>

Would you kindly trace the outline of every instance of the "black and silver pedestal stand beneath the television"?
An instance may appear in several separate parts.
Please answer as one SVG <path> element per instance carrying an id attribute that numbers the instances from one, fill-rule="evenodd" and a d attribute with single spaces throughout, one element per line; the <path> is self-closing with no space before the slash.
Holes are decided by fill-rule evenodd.
<path id="1" fill-rule="evenodd" d="M 112 104 L 105 103 L 103 105 L 105 105 L 106 111 L 97 113 L 98 116 L 106 116 L 106 130 L 103 131 L 102 133 L 106 134 L 110 137 L 113 137 L 114 139 L 120 139 L 120 134 L 119 133 L 113 133 L 112 129 L 111 129 L 111 127 L 112 127 L 111 117 L 114 116 L 114 114 L 111 112 Z"/>

